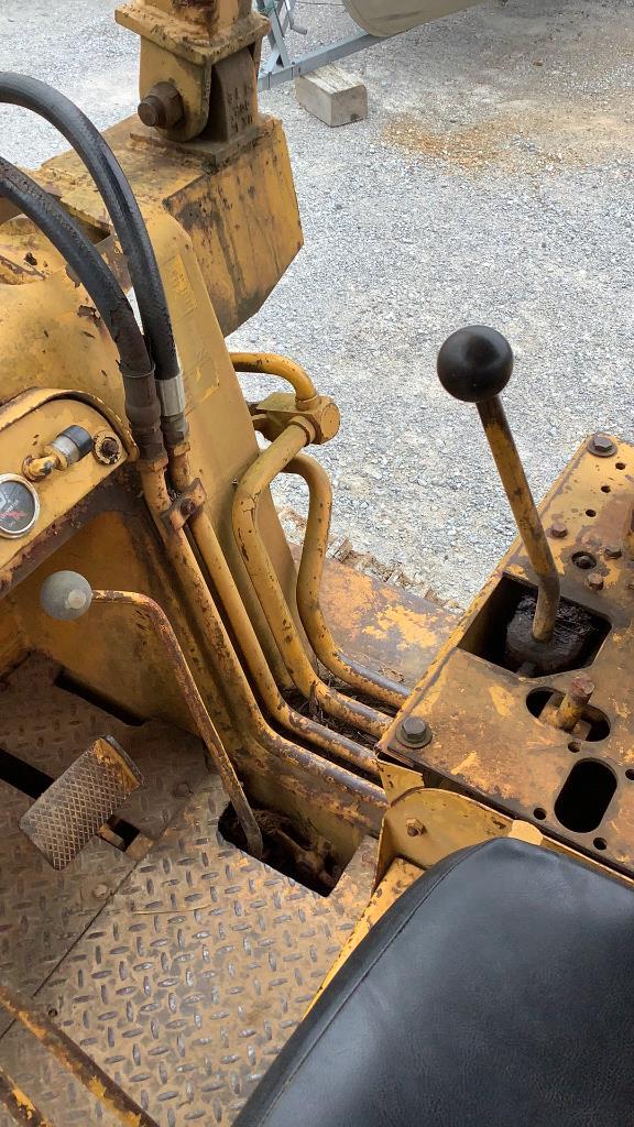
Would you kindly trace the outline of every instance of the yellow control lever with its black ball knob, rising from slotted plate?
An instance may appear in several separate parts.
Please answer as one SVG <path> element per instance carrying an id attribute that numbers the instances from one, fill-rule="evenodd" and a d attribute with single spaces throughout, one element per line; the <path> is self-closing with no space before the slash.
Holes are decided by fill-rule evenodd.
<path id="1" fill-rule="evenodd" d="M 513 370 L 511 346 L 496 329 L 472 325 L 447 338 L 438 354 L 437 366 L 440 382 L 450 396 L 477 406 L 519 534 L 537 576 L 532 638 L 551 641 L 560 606 L 560 577 L 500 400 L 500 392 Z"/>

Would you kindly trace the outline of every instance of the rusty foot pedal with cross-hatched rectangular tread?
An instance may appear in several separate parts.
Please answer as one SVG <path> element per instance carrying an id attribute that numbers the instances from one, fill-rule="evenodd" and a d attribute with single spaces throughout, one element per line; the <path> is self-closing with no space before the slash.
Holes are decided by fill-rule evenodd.
<path id="1" fill-rule="evenodd" d="M 20 829 L 53 869 L 65 869 L 142 781 L 116 739 L 96 739 L 29 807 Z"/>

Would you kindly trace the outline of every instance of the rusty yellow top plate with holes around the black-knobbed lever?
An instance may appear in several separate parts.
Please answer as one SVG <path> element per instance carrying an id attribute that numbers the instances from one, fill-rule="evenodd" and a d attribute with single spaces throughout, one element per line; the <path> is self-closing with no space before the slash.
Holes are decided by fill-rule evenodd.
<path id="1" fill-rule="evenodd" d="M 403 709 L 402 716 L 425 718 L 431 743 L 420 752 L 404 748 L 398 740 L 400 718 L 381 740 L 382 754 L 421 769 L 428 784 L 461 790 L 526 818 L 628 875 L 634 875 L 634 774 L 628 773 L 634 769 L 634 562 L 625 552 L 624 529 L 633 494 L 634 449 L 617 443 L 611 458 L 598 458 L 584 443 L 541 506 L 546 529 L 553 523 L 564 529 L 564 535 L 560 527 L 560 535 L 551 539 L 562 594 L 609 622 L 605 641 L 584 669 L 596 685 L 591 704 L 606 718 L 608 735 L 575 739 L 531 715 L 529 694 L 540 689 L 563 693 L 574 671 L 529 680 L 477 656 L 473 646 L 461 648 L 466 636 L 477 635 L 487 606 L 495 605 L 491 600 L 503 577 L 534 582 L 523 549 L 516 543 Z M 575 565 L 578 552 L 590 554 L 590 569 Z M 599 577 L 602 586 L 592 589 L 589 575 Z M 501 629 L 494 619 L 485 627 L 490 633 Z M 602 819 L 582 832 L 564 824 L 557 804 L 581 761 L 606 764 L 616 780 Z"/>

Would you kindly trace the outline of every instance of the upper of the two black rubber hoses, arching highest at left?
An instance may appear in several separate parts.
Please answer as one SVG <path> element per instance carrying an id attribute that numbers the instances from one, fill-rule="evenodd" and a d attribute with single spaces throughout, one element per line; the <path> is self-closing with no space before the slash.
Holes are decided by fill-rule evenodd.
<path id="1" fill-rule="evenodd" d="M 157 380 L 178 375 L 178 356 L 165 289 L 134 193 L 108 143 L 74 103 L 46 82 L 0 71 L 0 103 L 21 106 L 54 125 L 97 185 L 127 260 Z"/>

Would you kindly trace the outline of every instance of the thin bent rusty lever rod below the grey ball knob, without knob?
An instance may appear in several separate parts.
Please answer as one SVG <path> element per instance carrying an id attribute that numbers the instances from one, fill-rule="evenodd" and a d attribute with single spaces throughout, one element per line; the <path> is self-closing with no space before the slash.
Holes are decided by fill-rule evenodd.
<path id="1" fill-rule="evenodd" d="M 229 796 L 231 806 L 236 811 L 238 822 L 245 832 L 249 853 L 253 857 L 261 858 L 263 852 L 262 832 L 243 790 L 243 784 L 234 770 L 234 764 L 205 708 L 167 614 L 153 598 L 132 591 L 94 591 L 93 601 L 98 603 L 124 603 L 140 611 L 156 627 L 157 636 L 167 651 L 171 672 L 187 702 L 187 708 L 192 713 L 199 736 L 209 752 L 210 758 L 222 780 L 222 786 Z"/>

